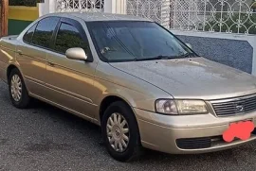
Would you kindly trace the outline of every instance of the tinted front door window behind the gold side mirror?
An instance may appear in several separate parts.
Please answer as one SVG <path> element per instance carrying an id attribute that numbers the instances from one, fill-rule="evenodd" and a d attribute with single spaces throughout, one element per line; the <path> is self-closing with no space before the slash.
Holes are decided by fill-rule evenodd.
<path id="1" fill-rule="evenodd" d="M 57 34 L 55 50 L 60 53 L 72 47 L 81 47 L 85 52 L 88 52 L 88 43 L 82 40 L 79 30 L 75 26 L 63 23 Z"/>

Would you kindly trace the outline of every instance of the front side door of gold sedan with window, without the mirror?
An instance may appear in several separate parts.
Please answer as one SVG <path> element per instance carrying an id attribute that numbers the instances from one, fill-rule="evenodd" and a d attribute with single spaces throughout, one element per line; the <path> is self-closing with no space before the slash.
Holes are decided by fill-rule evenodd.
<path id="1" fill-rule="evenodd" d="M 65 51 L 82 47 L 90 61 L 69 60 Z M 61 107 L 93 118 L 96 105 L 92 101 L 97 65 L 80 22 L 62 18 L 55 34 L 53 51 L 47 53 L 46 86 L 48 99 Z"/>

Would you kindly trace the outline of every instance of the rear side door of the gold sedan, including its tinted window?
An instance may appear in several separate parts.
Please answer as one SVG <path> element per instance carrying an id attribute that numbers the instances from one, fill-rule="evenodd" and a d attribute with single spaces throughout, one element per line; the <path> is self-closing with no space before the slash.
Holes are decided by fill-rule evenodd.
<path id="1" fill-rule="evenodd" d="M 59 17 L 46 17 L 31 26 L 17 46 L 16 60 L 25 78 L 27 90 L 41 97 L 45 95 L 46 52 L 53 38 Z"/>

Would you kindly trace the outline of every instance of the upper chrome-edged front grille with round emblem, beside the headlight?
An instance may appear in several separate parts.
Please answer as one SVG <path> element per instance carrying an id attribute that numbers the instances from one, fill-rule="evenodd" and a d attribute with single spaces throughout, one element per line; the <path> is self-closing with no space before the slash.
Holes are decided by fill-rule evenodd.
<path id="1" fill-rule="evenodd" d="M 256 94 L 241 98 L 211 102 L 218 116 L 229 116 L 256 111 Z"/>

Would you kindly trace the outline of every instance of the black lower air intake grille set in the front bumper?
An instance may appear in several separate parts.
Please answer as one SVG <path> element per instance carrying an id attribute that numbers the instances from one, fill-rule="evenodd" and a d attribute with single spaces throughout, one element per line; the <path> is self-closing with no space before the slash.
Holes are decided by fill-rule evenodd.
<path id="1" fill-rule="evenodd" d="M 183 139 L 176 140 L 176 145 L 181 149 L 209 148 L 210 144 L 211 144 L 210 137 L 183 138 Z"/>

